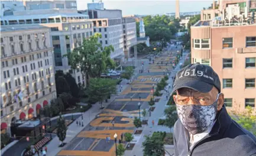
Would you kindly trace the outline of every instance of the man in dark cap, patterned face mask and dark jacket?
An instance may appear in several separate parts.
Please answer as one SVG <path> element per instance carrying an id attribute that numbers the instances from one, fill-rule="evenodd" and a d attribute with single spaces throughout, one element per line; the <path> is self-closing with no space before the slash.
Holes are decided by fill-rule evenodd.
<path id="1" fill-rule="evenodd" d="M 184 67 L 176 74 L 173 92 L 179 116 L 173 132 L 176 156 L 256 155 L 256 138 L 228 115 L 212 67 Z"/>

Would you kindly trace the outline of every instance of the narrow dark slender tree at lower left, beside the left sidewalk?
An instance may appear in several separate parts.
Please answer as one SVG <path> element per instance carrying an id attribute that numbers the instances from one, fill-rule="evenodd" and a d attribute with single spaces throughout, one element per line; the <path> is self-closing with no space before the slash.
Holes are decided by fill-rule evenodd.
<path id="1" fill-rule="evenodd" d="M 59 119 L 57 119 L 57 137 L 63 143 L 64 139 L 66 139 L 67 126 L 65 119 L 60 115 Z"/>

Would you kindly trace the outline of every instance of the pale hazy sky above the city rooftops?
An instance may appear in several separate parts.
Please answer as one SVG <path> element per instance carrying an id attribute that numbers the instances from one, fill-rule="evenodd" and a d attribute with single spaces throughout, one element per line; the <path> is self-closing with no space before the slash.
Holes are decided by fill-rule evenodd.
<path id="1" fill-rule="evenodd" d="M 77 0 L 77 9 L 87 9 L 88 0 Z M 95 0 L 98 2 L 98 0 Z M 121 9 L 122 15 L 147 15 L 147 14 L 164 14 L 175 12 L 174 0 L 103 0 L 106 9 Z M 201 11 L 203 7 L 208 7 L 212 1 L 201 0 L 180 0 L 180 12 Z"/>

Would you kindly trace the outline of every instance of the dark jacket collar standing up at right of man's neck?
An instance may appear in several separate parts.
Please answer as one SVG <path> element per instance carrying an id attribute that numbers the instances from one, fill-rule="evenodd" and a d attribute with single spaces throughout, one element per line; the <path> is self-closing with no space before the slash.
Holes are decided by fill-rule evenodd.
<path id="1" fill-rule="evenodd" d="M 211 134 L 224 134 L 226 129 L 229 127 L 229 125 L 232 123 L 231 117 L 228 115 L 228 112 L 226 111 L 225 105 L 223 105 L 221 111 L 217 113 L 216 116 L 217 121 L 215 122 L 215 125 L 212 128 L 212 131 L 210 131 L 209 135 Z"/>

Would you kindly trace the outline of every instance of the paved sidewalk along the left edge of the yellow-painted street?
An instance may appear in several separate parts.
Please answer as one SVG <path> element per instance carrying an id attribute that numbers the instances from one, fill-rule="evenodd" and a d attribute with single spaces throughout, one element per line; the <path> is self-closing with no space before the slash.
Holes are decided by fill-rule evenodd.
<path id="1" fill-rule="evenodd" d="M 134 75 L 136 76 L 138 74 L 137 71 L 134 72 Z M 127 80 L 122 80 L 121 85 L 123 86 L 122 90 L 125 90 L 125 88 L 129 85 L 127 85 Z M 119 86 L 120 85 L 116 85 L 116 89 L 117 89 L 117 93 L 119 95 Z M 111 96 L 111 99 L 108 100 L 108 102 L 103 102 L 103 106 L 106 108 L 110 103 L 112 103 L 116 96 L 118 95 L 113 95 Z M 96 115 L 98 115 L 99 113 L 102 112 L 103 109 L 100 109 L 101 105 L 97 102 L 94 105 L 92 105 L 92 108 L 90 108 L 88 111 L 86 111 L 85 113 L 83 113 L 83 124 L 86 126 L 88 125 L 91 121 L 93 121 L 93 119 L 95 119 Z M 82 116 L 80 116 L 79 118 L 77 118 L 78 121 L 82 121 Z M 64 140 L 64 142 L 69 143 L 70 141 L 72 141 L 72 139 L 74 137 L 76 137 L 77 134 L 79 134 L 79 132 L 81 132 L 83 130 L 83 128 L 85 128 L 85 126 L 77 126 L 76 125 L 76 121 L 74 121 L 72 124 L 69 125 L 68 129 L 67 129 L 67 134 L 66 134 L 66 139 Z M 47 155 L 57 155 L 58 152 L 60 152 L 62 150 L 62 148 L 64 147 L 58 147 L 60 144 L 59 138 L 55 137 L 53 138 L 50 142 L 48 142 L 48 144 L 46 144 L 47 146 Z M 37 154 L 35 154 L 37 155 Z"/>

